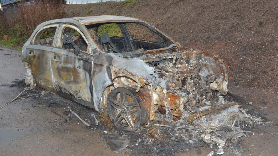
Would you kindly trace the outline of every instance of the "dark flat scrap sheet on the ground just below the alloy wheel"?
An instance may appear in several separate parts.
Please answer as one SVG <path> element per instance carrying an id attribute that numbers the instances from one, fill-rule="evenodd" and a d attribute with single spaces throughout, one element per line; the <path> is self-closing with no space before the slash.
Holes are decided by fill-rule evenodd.
<path id="1" fill-rule="evenodd" d="M 101 134 L 100 136 L 109 148 L 116 153 L 121 153 L 129 144 L 129 140 L 120 136 L 118 131 L 115 131 L 113 134 Z"/>

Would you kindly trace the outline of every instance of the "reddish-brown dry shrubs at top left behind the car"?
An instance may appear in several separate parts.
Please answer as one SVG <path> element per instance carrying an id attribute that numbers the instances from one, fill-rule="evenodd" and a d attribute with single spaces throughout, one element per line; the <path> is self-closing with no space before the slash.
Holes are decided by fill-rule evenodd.
<path id="1" fill-rule="evenodd" d="M 0 11 L 0 37 L 8 34 L 27 38 L 40 23 L 64 18 L 63 1 L 38 0 L 30 5 L 21 3 L 19 7 Z"/>

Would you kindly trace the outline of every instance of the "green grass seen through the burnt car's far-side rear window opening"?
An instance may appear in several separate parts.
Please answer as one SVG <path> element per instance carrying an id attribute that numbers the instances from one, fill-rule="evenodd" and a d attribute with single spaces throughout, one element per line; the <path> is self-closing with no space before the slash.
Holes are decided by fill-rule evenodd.
<path id="1" fill-rule="evenodd" d="M 120 27 L 115 23 L 104 24 L 98 28 L 97 32 L 99 33 L 99 35 L 107 32 L 110 37 L 113 36 L 123 37 Z"/>

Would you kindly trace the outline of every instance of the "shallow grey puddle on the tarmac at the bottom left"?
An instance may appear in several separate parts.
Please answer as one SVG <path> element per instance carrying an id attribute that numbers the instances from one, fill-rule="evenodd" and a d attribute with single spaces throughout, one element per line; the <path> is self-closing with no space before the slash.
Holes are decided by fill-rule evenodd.
<path id="1" fill-rule="evenodd" d="M 1 128 L 0 129 L 0 147 L 7 145 L 9 142 L 13 141 L 26 133 L 24 130 Z"/>

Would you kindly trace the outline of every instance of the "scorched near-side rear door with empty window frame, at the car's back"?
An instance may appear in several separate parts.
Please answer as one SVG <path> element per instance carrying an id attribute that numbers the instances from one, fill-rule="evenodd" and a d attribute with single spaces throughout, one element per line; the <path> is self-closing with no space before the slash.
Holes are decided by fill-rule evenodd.
<path id="1" fill-rule="evenodd" d="M 56 93 L 50 61 L 59 24 L 42 27 L 26 46 L 26 61 L 39 87 Z"/>

